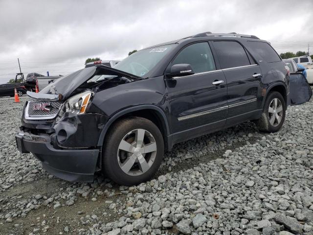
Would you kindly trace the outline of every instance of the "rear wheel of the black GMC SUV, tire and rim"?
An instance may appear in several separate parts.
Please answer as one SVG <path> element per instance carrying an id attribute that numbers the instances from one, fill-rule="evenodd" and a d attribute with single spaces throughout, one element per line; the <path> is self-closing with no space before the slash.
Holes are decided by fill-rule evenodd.
<path id="1" fill-rule="evenodd" d="M 261 118 L 256 122 L 260 131 L 277 132 L 286 116 L 285 99 L 279 92 L 270 92 L 265 100 Z"/>

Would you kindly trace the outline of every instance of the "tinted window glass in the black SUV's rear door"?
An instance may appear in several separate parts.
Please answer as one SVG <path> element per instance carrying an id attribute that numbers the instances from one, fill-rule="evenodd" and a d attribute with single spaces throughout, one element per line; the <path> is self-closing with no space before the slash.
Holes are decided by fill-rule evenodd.
<path id="1" fill-rule="evenodd" d="M 246 50 L 238 42 L 215 41 L 214 48 L 218 53 L 222 69 L 250 65 Z"/>

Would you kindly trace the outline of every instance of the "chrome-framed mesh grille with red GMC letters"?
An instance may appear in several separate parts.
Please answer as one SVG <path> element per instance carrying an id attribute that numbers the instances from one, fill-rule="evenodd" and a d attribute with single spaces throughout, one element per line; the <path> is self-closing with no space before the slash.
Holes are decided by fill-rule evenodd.
<path id="1" fill-rule="evenodd" d="M 49 110 L 36 109 L 35 107 L 40 107 L 46 104 L 46 108 Z M 62 103 L 59 101 L 42 101 L 42 100 L 31 100 L 28 101 L 26 107 L 26 114 L 28 117 L 50 117 L 54 118 L 60 111 Z M 27 117 L 26 117 L 27 118 Z"/>

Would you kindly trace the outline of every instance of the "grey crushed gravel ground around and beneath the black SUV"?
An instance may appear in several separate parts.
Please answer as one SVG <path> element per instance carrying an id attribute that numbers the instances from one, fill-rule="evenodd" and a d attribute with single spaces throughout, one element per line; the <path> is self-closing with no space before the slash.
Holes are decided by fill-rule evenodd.
<path id="1" fill-rule="evenodd" d="M 14 134 L 23 103 L 0 98 L 0 234 L 313 235 L 313 101 L 282 130 L 253 123 L 175 145 L 155 179 L 134 187 L 49 175 Z"/>

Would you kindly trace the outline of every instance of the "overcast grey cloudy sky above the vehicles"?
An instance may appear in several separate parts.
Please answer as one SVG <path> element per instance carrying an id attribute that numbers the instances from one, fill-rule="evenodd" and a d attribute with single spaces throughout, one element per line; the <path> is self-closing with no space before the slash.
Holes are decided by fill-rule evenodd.
<path id="1" fill-rule="evenodd" d="M 19 72 L 67 74 L 88 57 L 123 59 L 133 49 L 200 32 L 268 40 L 278 53 L 313 54 L 313 0 L 0 0 L 0 83 Z"/>

